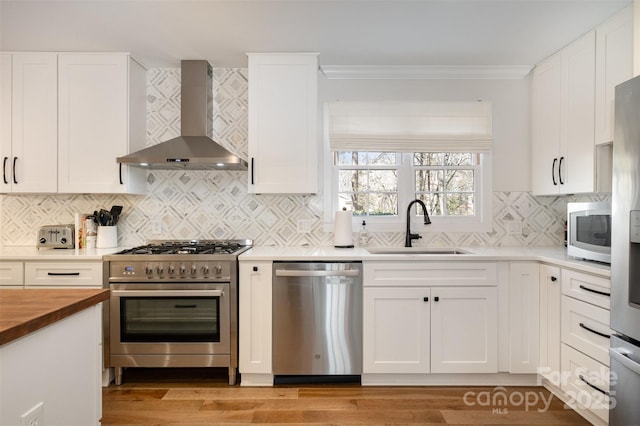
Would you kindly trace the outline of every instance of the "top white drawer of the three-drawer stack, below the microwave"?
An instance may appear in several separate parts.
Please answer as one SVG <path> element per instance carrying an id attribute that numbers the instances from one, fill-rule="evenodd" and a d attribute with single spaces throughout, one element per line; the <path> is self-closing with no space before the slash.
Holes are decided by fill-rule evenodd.
<path id="1" fill-rule="evenodd" d="M 611 280 L 563 269 L 562 294 L 609 309 L 611 305 Z"/>

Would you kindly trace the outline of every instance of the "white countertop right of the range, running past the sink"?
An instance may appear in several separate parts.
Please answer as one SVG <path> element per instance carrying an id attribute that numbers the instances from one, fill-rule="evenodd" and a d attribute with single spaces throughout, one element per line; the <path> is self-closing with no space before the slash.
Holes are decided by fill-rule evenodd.
<path id="1" fill-rule="evenodd" d="M 371 247 L 372 249 L 376 247 Z M 419 247 L 416 247 L 417 249 Z M 422 247 L 431 248 L 431 247 Z M 436 248 L 436 247 L 433 247 Z M 440 247 L 437 247 L 440 248 Z M 266 247 L 256 246 L 242 253 L 240 261 L 538 261 L 564 268 L 611 276 L 609 265 L 567 256 L 565 247 L 456 247 L 468 254 L 372 254 L 366 248 Z"/>

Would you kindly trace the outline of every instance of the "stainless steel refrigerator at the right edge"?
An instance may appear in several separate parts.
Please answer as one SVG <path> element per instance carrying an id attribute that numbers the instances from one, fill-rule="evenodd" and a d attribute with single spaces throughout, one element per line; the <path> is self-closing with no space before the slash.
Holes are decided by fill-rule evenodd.
<path id="1" fill-rule="evenodd" d="M 611 204 L 610 424 L 640 421 L 640 77 L 616 87 Z"/>

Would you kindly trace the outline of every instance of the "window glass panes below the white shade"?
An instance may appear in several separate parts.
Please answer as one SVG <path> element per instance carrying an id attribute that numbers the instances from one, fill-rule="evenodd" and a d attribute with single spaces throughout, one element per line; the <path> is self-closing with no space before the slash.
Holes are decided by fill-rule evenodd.
<path id="1" fill-rule="evenodd" d="M 356 217 L 397 221 L 402 206 L 422 200 L 429 216 L 477 223 L 482 211 L 480 154 L 459 152 L 362 152 L 334 154 L 337 209 Z M 405 190 L 402 190 L 405 188 Z M 411 190 L 413 188 L 413 190 Z M 421 215 L 422 210 L 414 211 Z M 378 223 L 384 223 L 378 220 Z"/>

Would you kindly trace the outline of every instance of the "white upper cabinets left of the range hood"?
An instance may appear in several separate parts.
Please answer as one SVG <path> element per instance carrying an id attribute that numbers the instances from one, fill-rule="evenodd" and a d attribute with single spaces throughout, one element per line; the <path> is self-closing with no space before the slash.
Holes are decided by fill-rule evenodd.
<path id="1" fill-rule="evenodd" d="M 146 71 L 126 53 L 2 53 L 3 193 L 143 193 Z"/>

